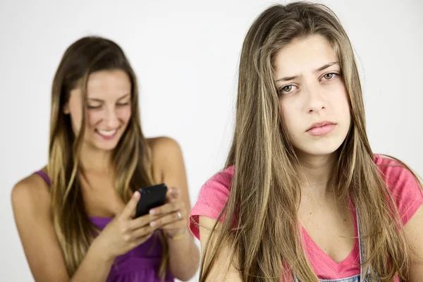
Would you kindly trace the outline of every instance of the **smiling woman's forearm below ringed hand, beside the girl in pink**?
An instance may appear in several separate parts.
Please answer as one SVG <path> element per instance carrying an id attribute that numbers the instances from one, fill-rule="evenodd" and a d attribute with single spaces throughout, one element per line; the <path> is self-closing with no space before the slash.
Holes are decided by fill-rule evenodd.
<path id="1" fill-rule="evenodd" d="M 200 251 L 194 238 L 187 230 L 182 238 L 167 238 L 167 243 L 171 273 L 181 281 L 188 281 L 195 275 L 200 263 Z"/>

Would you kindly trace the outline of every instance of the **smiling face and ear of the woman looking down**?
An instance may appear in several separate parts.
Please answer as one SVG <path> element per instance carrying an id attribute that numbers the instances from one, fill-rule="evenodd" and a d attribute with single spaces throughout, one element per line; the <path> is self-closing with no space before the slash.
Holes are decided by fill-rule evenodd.
<path id="1" fill-rule="evenodd" d="M 131 82 L 125 71 L 97 71 L 87 82 L 85 109 L 85 145 L 104 151 L 118 145 L 131 116 Z M 72 128 L 78 134 L 82 122 L 82 91 L 71 91 L 63 112 L 71 115 Z"/>

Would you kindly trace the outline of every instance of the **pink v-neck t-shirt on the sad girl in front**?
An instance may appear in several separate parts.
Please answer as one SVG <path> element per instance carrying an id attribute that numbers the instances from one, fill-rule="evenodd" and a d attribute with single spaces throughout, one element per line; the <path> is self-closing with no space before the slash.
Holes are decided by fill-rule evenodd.
<path id="1" fill-rule="evenodd" d="M 419 183 L 410 171 L 400 166 L 393 159 L 376 154 L 374 155 L 374 163 L 379 167 L 381 176 L 392 193 L 400 218 L 405 225 L 423 203 L 423 193 Z M 190 230 L 197 239 L 200 240 L 200 231 L 197 225 L 198 216 L 217 219 L 228 200 L 229 187 L 234 171 L 234 166 L 226 168 L 226 170 L 216 173 L 202 186 L 200 195 L 190 214 Z M 353 217 L 355 234 L 357 235 L 355 212 L 353 212 Z M 360 248 L 357 239 L 350 255 L 342 262 L 336 263 L 314 243 L 304 228 L 302 228 L 302 235 L 305 253 L 314 272 L 320 279 L 340 279 L 360 274 Z M 396 281 L 398 281 L 398 278 L 396 278 Z"/>

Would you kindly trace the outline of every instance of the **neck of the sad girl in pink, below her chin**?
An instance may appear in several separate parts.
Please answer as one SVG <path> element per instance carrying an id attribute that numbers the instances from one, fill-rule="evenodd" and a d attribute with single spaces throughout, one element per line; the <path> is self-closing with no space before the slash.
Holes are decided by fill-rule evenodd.
<path id="1" fill-rule="evenodd" d="M 321 198 L 333 194 L 328 183 L 336 164 L 336 153 L 321 156 L 297 154 L 297 156 L 301 164 L 299 176 L 303 195 L 311 194 L 312 197 Z"/>

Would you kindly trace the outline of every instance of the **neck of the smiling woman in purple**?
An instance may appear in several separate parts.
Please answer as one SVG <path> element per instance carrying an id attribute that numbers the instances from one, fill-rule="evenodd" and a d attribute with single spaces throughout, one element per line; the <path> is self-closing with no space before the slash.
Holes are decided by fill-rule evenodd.
<path id="1" fill-rule="evenodd" d="M 90 145 L 82 145 L 80 154 L 80 164 L 84 171 L 95 173 L 111 173 L 113 166 L 111 164 L 112 151 L 95 149 Z"/>

